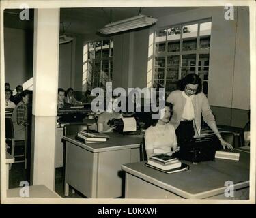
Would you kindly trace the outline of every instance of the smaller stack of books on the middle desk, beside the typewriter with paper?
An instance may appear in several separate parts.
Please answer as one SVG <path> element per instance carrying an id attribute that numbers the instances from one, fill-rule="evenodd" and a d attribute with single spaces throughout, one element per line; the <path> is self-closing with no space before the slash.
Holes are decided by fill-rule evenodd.
<path id="1" fill-rule="evenodd" d="M 109 136 L 106 134 L 101 134 L 95 130 L 82 130 L 77 133 L 76 140 L 87 143 L 98 143 L 106 142 L 109 139 Z"/>

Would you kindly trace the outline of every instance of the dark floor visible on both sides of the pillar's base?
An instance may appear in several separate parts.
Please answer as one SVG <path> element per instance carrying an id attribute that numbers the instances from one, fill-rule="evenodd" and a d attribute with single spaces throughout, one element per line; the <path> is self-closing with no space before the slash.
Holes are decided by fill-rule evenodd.
<path id="1" fill-rule="evenodd" d="M 14 163 L 12 164 L 12 169 L 9 171 L 9 188 L 20 187 L 21 181 L 29 182 L 29 170 L 24 169 L 24 163 Z M 64 186 L 63 186 L 63 168 L 56 168 L 55 171 L 55 192 L 59 194 L 62 198 L 86 198 L 78 191 L 72 193 L 70 188 L 70 195 L 64 196 Z"/>

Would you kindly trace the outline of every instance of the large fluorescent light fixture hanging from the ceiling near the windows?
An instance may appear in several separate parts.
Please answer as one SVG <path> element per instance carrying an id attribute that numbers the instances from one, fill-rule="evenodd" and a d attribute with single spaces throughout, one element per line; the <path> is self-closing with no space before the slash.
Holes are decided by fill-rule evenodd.
<path id="1" fill-rule="evenodd" d="M 140 27 L 154 25 L 154 23 L 156 23 L 157 21 L 157 19 L 152 18 L 151 16 L 145 16 L 141 14 L 132 18 L 127 18 L 125 20 L 111 22 L 102 29 L 100 29 L 99 32 L 104 35 L 119 33 L 122 31 L 128 31 L 130 29 L 137 29 Z"/>

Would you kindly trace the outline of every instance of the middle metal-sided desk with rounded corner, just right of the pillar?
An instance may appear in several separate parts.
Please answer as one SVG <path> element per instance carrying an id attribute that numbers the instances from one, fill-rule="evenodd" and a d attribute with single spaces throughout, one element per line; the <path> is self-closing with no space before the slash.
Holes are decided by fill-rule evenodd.
<path id="1" fill-rule="evenodd" d="M 83 144 L 74 136 L 66 140 L 65 196 L 68 185 L 87 198 L 122 196 L 122 164 L 139 161 L 142 136 L 109 133 L 107 142 Z"/>

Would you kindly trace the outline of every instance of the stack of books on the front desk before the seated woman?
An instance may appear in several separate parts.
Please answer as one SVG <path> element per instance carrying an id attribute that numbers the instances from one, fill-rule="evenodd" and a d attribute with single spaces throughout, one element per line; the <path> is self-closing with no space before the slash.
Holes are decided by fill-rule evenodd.
<path id="1" fill-rule="evenodd" d="M 180 172 L 189 169 L 189 166 L 180 162 L 177 157 L 169 156 L 167 154 L 154 155 L 150 157 L 146 166 L 166 173 Z"/>

